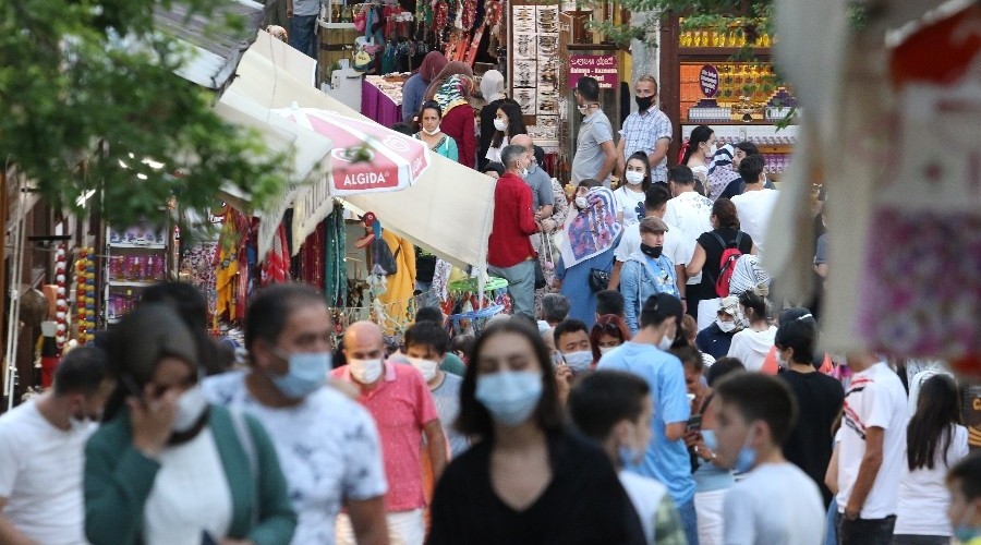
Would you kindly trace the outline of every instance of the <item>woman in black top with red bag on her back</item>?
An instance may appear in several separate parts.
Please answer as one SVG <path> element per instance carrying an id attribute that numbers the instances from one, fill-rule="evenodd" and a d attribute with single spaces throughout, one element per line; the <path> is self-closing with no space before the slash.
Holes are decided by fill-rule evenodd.
<path id="1" fill-rule="evenodd" d="M 703 299 L 699 304 L 699 329 L 708 327 L 715 311 L 722 301 L 716 292 L 716 282 L 722 274 L 722 256 L 728 249 L 738 249 L 742 254 L 756 255 L 753 238 L 739 230 L 739 215 L 736 205 L 728 198 L 719 198 L 712 205 L 708 216 L 712 231 L 702 233 L 695 241 L 694 254 L 685 268 L 689 278 L 702 275 L 699 291 L 711 299 Z M 731 293 L 731 291 L 730 291 Z M 716 295 L 716 296 L 712 296 Z M 728 295 L 726 293 L 725 295 Z M 725 296 L 724 295 L 724 296 Z M 713 354 L 714 355 L 714 354 Z M 725 354 L 723 354 L 725 355 Z"/>

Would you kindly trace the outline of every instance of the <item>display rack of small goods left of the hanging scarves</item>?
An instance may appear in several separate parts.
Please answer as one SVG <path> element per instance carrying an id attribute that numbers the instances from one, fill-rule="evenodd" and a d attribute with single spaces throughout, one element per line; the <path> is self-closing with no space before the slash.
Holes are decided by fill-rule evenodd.
<path id="1" fill-rule="evenodd" d="M 167 278 L 169 233 L 166 222 L 106 228 L 102 320 L 119 323 L 140 301 L 143 290 Z"/>

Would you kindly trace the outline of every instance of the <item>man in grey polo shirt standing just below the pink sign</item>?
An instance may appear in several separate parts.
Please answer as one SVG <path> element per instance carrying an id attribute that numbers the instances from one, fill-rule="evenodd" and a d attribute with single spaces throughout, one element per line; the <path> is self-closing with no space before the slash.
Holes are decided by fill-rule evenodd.
<path id="1" fill-rule="evenodd" d="M 583 118 L 572 157 L 572 183 L 593 179 L 609 187 L 609 175 L 617 166 L 617 148 L 613 125 L 600 106 L 600 82 L 590 76 L 580 77 L 574 94 Z"/>

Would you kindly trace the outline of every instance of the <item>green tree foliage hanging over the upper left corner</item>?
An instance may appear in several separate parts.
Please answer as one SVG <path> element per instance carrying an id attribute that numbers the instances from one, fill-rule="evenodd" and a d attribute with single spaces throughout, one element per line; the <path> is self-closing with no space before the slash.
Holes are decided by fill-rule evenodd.
<path id="1" fill-rule="evenodd" d="M 245 37 L 221 3 L 180 1 L 189 17 Z M 101 195 L 104 217 L 123 225 L 158 215 L 171 197 L 205 209 L 227 182 L 259 204 L 282 187 L 283 158 L 221 120 L 214 92 L 173 73 L 189 49 L 153 16 L 171 4 L 0 2 L 0 155 L 55 206 Z"/>

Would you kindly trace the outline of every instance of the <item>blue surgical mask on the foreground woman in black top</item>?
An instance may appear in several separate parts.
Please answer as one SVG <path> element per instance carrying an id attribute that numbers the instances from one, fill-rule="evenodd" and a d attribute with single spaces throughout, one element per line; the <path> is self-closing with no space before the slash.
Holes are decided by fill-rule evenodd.
<path id="1" fill-rule="evenodd" d="M 480 375 L 474 397 L 498 424 L 517 426 L 538 407 L 542 374 L 537 371 L 499 371 Z"/>

